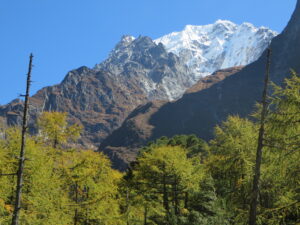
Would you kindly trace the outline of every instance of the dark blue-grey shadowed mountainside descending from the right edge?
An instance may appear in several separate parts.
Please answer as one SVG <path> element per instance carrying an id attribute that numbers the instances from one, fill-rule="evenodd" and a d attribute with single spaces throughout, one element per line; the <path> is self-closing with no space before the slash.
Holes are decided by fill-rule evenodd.
<path id="1" fill-rule="evenodd" d="M 272 40 L 270 47 L 273 82 L 281 84 L 283 79 L 289 76 L 290 68 L 300 72 L 300 0 L 287 27 Z M 141 144 L 160 136 L 197 134 L 206 140 L 212 138 L 215 125 L 229 115 L 246 117 L 253 111 L 255 102 L 261 98 L 265 67 L 266 52 L 256 62 L 241 71 L 233 71 L 234 74 L 225 77 L 224 80 L 213 83 L 205 89 L 192 88 L 181 99 L 153 110 L 147 114 L 147 119 L 144 119 L 147 123 L 143 126 L 131 126 L 128 129 L 128 123 L 135 121 L 142 113 L 126 119 L 120 129 L 103 141 L 100 150 L 104 149 L 107 152 L 114 149 L 117 152 L 114 155 L 122 155 L 120 151 L 126 148 L 127 154 L 131 151 L 134 155 Z M 202 85 L 198 84 L 200 87 Z M 135 140 L 133 138 L 127 142 L 126 140 L 130 139 L 129 134 L 132 133 L 148 135 L 145 137 L 137 135 Z M 126 160 L 125 158 L 124 162 Z M 116 167 L 118 162 L 120 160 L 116 161 Z"/>

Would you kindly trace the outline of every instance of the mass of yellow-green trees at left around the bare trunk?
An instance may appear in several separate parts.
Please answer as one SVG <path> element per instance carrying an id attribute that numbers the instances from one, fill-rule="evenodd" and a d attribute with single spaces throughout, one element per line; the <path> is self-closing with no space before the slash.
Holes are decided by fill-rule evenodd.
<path id="1" fill-rule="evenodd" d="M 92 151 L 47 146 L 27 136 L 20 224 L 124 224 L 119 212 L 121 174 Z M 0 224 L 10 224 L 15 201 L 21 135 L 17 128 L 0 139 Z M 51 144 L 51 143 L 49 143 Z M 52 145 L 52 144 L 51 144 Z M 76 187 L 76 201 L 75 190 Z M 77 216 L 75 217 L 75 212 Z"/>

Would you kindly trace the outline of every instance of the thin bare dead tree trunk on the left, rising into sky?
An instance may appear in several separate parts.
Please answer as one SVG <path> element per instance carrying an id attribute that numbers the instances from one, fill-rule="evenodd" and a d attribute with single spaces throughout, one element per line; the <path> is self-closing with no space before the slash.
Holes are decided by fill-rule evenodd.
<path id="1" fill-rule="evenodd" d="M 24 163 L 25 163 L 25 142 L 26 142 L 26 131 L 27 131 L 29 91 L 30 91 L 30 84 L 31 84 L 32 59 L 33 59 L 33 55 L 30 54 L 29 68 L 27 74 L 26 94 L 24 95 L 25 104 L 24 104 L 23 125 L 22 125 L 22 143 L 21 143 L 20 158 L 19 158 L 19 168 L 17 172 L 16 201 L 15 201 L 15 208 L 12 217 L 12 223 L 11 223 L 12 225 L 19 224 L 19 214 L 21 209 L 21 195 L 22 195 L 23 172 L 24 172 Z"/>

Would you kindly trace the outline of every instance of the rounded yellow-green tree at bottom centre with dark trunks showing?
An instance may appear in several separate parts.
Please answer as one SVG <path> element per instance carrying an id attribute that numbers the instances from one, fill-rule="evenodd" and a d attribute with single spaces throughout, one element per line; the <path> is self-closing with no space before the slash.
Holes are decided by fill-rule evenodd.
<path id="1" fill-rule="evenodd" d="M 188 192 L 199 188 L 203 177 L 198 157 L 188 158 L 179 146 L 148 148 L 137 160 L 130 180 L 137 196 L 148 208 L 149 224 L 164 224 L 174 214 L 179 217 L 187 209 Z M 161 212 L 157 208 L 160 203 Z"/>

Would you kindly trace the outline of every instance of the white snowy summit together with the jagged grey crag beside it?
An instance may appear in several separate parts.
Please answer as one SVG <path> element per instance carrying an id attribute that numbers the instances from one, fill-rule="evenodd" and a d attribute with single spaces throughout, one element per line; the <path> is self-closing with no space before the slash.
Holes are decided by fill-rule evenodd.
<path id="1" fill-rule="evenodd" d="M 277 33 L 250 23 L 228 20 L 186 25 L 153 41 L 124 35 L 109 57 L 95 66 L 109 71 L 122 85 L 136 82 L 149 100 L 174 100 L 201 77 L 255 61 Z"/>

